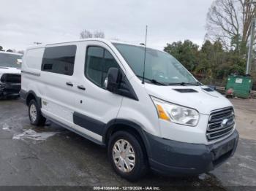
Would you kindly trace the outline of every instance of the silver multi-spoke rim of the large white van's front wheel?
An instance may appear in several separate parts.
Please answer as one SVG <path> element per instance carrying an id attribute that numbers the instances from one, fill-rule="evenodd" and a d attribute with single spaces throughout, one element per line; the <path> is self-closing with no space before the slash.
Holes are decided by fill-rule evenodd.
<path id="1" fill-rule="evenodd" d="M 135 168 L 135 151 L 131 144 L 124 139 L 119 139 L 113 145 L 112 156 L 116 167 L 124 172 L 129 173 Z"/>

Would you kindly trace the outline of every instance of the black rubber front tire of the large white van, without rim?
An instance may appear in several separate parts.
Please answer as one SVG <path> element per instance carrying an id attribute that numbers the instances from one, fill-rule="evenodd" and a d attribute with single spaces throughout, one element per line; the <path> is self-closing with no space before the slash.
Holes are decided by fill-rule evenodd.
<path id="1" fill-rule="evenodd" d="M 114 144 L 120 139 L 128 141 L 129 144 L 132 145 L 135 152 L 135 166 L 130 172 L 123 172 L 119 170 L 113 159 Z M 148 158 L 146 156 L 146 150 L 144 149 L 143 144 L 141 143 L 140 139 L 127 131 L 117 131 L 110 137 L 108 144 L 108 157 L 114 171 L 116 171 L 116 173 L 122 178 L 127 179 L 130 182 L 138 181 L 148 171 Z"/>

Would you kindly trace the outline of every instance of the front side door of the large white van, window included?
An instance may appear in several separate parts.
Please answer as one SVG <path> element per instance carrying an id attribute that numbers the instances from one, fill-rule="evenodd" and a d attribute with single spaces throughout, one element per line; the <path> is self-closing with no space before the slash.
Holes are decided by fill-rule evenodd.
<path id="1" fill-rule="evenodd" d="M 75 86 L 75 127 L 102 141 L 105 125 L 116 118 L 122 96 L 110 93 L 104 85 L 108 69 L 120 66 L 109 47 L 99 42 L 84 42 L 83 62 Z"/>

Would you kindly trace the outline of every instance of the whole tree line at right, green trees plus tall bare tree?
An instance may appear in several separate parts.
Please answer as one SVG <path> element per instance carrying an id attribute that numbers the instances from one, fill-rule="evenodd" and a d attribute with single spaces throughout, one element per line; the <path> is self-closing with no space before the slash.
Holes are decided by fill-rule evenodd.
<path id="1" fill-rule="evenodd" d="M 186 40 L 167 44 L 165 52 L 175 56 L 197 79 L 225 85 L 230 74 L 244 75 L 248 42 L 256 6 L 252 0 L 214 0 L 208 10 L 206 37 L 202 47 Z M 256 78 L 255 47 L 251 75 Z"/>

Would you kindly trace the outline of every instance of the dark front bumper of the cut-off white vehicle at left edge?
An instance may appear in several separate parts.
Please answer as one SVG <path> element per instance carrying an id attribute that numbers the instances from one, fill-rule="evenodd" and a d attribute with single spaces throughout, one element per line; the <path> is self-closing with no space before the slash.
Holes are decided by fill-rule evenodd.
<path id="1" fill-rule="evenodd" d="M 0 82 L 0 96 L 11 96 L 20 94 L 20 83 L 1 83 Z"/>

